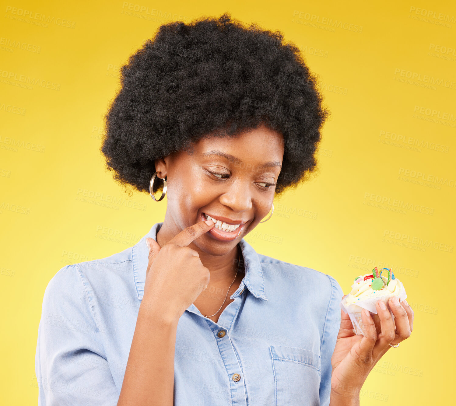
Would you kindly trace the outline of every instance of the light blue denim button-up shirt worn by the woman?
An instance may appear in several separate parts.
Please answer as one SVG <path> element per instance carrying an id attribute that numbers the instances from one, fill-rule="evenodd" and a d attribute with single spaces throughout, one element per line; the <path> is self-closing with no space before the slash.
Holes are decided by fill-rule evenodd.
<path id="1" fill-rule="evenodd" d="M 62 267 L 44 293 L 38 405 L 117 404 L 156 223 L 133 247 Z M 325 273 L 239 242 L 245 276 L 220 314 L 177 324 L 174 405 L 329 405 L 342 289 Z M 160 382 L 156 383 L 160 385 Z"/>

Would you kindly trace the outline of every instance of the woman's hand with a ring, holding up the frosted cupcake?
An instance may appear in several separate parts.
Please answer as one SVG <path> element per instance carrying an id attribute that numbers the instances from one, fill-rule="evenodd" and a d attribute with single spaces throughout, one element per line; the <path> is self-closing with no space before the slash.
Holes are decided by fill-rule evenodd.
<path id="1" fill-rule="evenodd" d="M 397 306 L 393 298 L 389 298 L 389 308 L 396 323 L 395 330 L 393 319 L 383 300 L 378 300 L 375 307 L 377 314 L 363 309 L 361 318 L 365 336 L 355 334 L 348 313 L 341 309 L 341 326 L 331 358 L 331 394 L 334 397 L 358 397 L 359 400 L 364 381 L 378 360 L 391 348 L 389 344 L 396 345 L 410 337 L 414 313 L 406 301 Z"/>

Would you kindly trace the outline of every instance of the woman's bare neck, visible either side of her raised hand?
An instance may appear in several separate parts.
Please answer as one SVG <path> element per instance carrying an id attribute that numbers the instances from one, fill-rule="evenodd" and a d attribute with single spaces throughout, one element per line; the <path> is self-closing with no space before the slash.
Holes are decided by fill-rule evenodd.
<path id="1" fill-rule="evenodd" d="M 163 221 L 160 230 L 157 232 L 156 240 L 160 247 L 163 247 L 172 238 L 179 234 L 181 230 L 176 226 L 174 221 L 171 223 Z M 211 272 L 211 278 L 208 286 L 217 285 L 218 283 L 229 283 L 233 281 L 234 275 L 237 272 L 244 272 L 244 261 L 241 253 L 241 247 L 236 245 L 234 249 L 222 255 L 212 255 L 202 251 L 193 242 L 188 245 L 198 252 L 201 263 Z M 238 259 L 240 258 L 240 263 Z"/>

